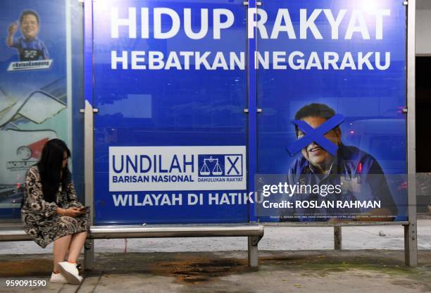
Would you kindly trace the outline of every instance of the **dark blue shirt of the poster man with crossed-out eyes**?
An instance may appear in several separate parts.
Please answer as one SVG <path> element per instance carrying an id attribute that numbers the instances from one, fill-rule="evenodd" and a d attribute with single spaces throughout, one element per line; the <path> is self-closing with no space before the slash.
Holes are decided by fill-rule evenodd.
<path id="1" fill-rule="evenodd" d="M 397 208 L 389 191 L 386 177 L 380 164 L 355 146 L 345 146 L 341 144 L 337 150 L 330 172 L 327 174 L 315 173 L 313 166 L 301 156 L 296 158 L 289 168 L 287 180 L 289 185 L 299 184 L 322 187 L 323 185 L 338 185 L 341 192 L 336 194 L 327 193 L 323 196 L 321 188 L 319 193 L 302 193 L 294 194 L 290 201 L 315 201 L 317 206 L 314 208 L 297 207 L 290 211 L 282 211 L 280 220 L 294 216 L 299 221 L 326 221 L 331 218 L 340 218 L 345 216 L 346 219 L 355 218 L 361 213 L 370 211 L 369 207 L 326 207 L 322 206 L 323 201 L 380 201 L 381 208 L 387 208 L 391 211 L 392 216 L 396 216 Z M 304 188 L 305 190 L 305 188 Z M 326 192 L 325 192 L 326 193 Z M 289 213 L 289 215 L 287 214 Z"/>

